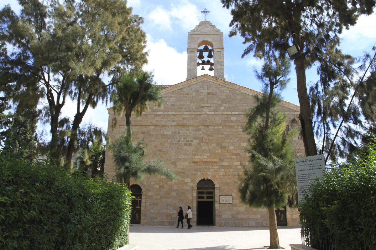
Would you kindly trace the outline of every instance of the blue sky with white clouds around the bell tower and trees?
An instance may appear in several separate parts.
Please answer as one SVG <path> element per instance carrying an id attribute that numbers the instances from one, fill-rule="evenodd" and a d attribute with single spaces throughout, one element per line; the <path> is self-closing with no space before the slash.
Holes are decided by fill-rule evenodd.
<path id="1" fill-rule="evenodd" d="M 7 1 L 0 4 L 11 4 L 17 11 L 17 1 Z M 172 85 L 186 79 L 187 67 L 187 34 L 200 21 L 204 20 L 201 11 L 206 8 L 207 21 L 212 22 L 224 35 L 224 73 L 227 81 L 260 91 L 261 83 L 255 79 L 254 68 L 261 68 L 263 61 L 247 55 L 241 58 L 246 45 L 240 36 L 229 37 L 229 23 L 232 19 L 230 10 L 222 7 L 220 0 L 129 0 L 128 6 L 133 8 L 133 14 L 144 18 L 143 30 L 147 34 L 147 50 L 149 63 L 144 70 L 153 70 L 158 84 Z M 371 52 L 376 45 L 376 14 L 361 16 L 358 23 L 345 30 L 341 49 L 346 54 L 361 56 L 365 51 Z M 200 70 L 201 71 L 201 70 Z M 315 69 L 307 69 L 307 82 L 316 81 Z M 201 72 L 199 73 L 201 74 Z M 296 77 L 294 66 L 291 67 L 290 84 L 282 93 L 284 100 L 299 105 L 296 92 Z M 110 106 L 110 105 L 109 105 Z M 109 106 L 99 105 L 89 110 L 85 115 L 86 121 L 91 121 L 107 130 Z M 70 105 L 64 109 L 64 115 L 69 115 Z M 48 129 L 48 127 L 46 128 Z"/>

